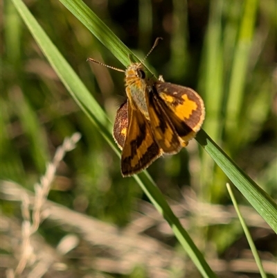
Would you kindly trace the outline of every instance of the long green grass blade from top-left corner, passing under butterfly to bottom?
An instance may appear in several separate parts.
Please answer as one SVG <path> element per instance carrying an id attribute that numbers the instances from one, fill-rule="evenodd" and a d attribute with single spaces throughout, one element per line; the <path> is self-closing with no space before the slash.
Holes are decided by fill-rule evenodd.
<path id="1" fill-rule="evenodd" d="M 105 137 L 105 139 L 107 139 L 108 143 L 119 155 L 118 148 L 114 144 L 114 140 L 111 137 L 111 123 L 109 119 L 107 119 L 105 112 L 102 111 L 98 103 L 93 99 L 91 94 L 89 94 L 87 88 L 82 84 L 82 81 L 78 78 L 73 69 L 71 69 L 66 60 L 64 60 L 46 33 L 44 33 L 44 30 L 39 26 L 33 15 L 30 14 L 24 3 L 21 0 L 12 0 L 12 2 L 15 4 L 17 11 L 28 26 L 30 32 L 37 41 L 39 47 L 44 52 L 44 55 L 50 62 L 51 66 L 53 69 L 55 69 L 57 75 L 69 90 L 71 96 L 80 105 L 87 116 L 89 116 L 89 119 L 91 119 L 91 121 L 98 127 L 100 133 Z M 80 1 L 70 2 L 78 2 L 80 4 Z M 85 10 L 82 10 L 84 7 L 80 8 L 80 6 L 74 6 L 74 8 L 77 8 L 75 13 L 77 13 L 79 16 L 82 13 L 86 14 Z M 99 24 L 100 19 L 95 19 L 95 21 L 98 21 Z M 98 26 L 98 28 L 104 27 Z M 109 33 L 108 30 L 103 32 L 106 35 Z M 204 277 L 216 277 L 214 272 L 206 263 L 202 253 L 197 249 L 196 245 L 193 243 L 184 227 L 181 226 L 179 219 L 173 214 L 168 203 L 163 198 L 161 191 L 159 191 L 148 173 L 142 173 L 141 175 L 135 176 L 134 178 L 137 180 L 137 182 L 139 182 L 143 190 L 145 190 L 145 193 L 148 195 L 150 200 L 152 200 L 158 211 L 160 211 L 164 218 L 168 220 L 168 223 L 172 227 L 173 232 L 175 232 L 175 235 L 179 239 L 181 245 L 184 246 L 186 252 L 188 252 L 188 255 L 192 258 L 195 266 L 197 266 L 199 269 L 199 272 L 201 272 Z"/>

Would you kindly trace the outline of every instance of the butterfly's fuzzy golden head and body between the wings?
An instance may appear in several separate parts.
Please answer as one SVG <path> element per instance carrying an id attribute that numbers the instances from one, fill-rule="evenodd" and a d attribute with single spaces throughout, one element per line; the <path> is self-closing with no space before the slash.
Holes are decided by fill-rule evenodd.
<path id="1" fill-rule="evenodd" d="M 127 97 L 134 110 L 139 109 L 149 119 L 145 94 L 148 93 L 150 80 L 146 77 L 143 65 L 134 63 L 125 71 L 125 84 Z"/>

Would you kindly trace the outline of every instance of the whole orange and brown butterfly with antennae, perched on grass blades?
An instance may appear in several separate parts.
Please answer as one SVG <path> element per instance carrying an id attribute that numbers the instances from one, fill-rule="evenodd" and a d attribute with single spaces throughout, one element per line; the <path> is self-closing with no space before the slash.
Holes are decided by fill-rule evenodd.
<path id="1" fill-rule="evenodd" d="M 148 55 L 157 46 L 155 41 Z M 122 150 L 123 177 L 140 173 L 161 155 L 174 155 L 188 145 L 202 126 L 205 107 L 193 89 L 148 78 L 142 62 L 125 71 L 127 100 L 116 112 L 113 136 Z"/>

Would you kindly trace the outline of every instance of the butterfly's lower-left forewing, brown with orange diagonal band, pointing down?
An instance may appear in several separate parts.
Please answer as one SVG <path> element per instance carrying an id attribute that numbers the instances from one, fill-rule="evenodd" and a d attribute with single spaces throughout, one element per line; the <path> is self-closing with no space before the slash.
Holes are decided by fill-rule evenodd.
<path id="1" fill-rule="evenodd" d="M 161 156 L 161 150 L 154 140 L 150 124 L 140 110 L 128 105 L 129 125 L 121 155 L 121 173 L 134 175 L 143 171 Z"/>

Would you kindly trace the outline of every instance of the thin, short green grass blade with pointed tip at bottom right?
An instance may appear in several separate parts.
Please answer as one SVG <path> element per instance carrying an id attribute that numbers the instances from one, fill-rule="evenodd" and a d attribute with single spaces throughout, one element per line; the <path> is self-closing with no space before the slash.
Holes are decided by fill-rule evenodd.
<path id="1" fill-rule="evenodd" d="M 247 237 L 247 241 L 248 241 L 249 246 L 251 248 L 251 251 L 253 253 L 253 257 L 254 257 L 254 259 L 255 259 L 255 261 L 257 263 L 257 266 L 258 266 L 258 268 L 260 270 L 260 275 L 262 276 L 262 278 L 267 278 L 267 275 L 265 274 L 265 270 L 262 267 L 262 261 L 260 261 L 260 257 L 259 257 L 258 251 L 256 249 L 255 244 L 253 243 L 253 239 L 251 237 L 249 229 L 247 228 L 247 224 L 245 223 L 244 219 L 242 218 L 242 214 L 240 214 L 240 209 L 238 207 L 237 201 L 235 200 L 235 196 L 233 195 L 233 191 L 231 189 L 231 186 L 230 186 L 230 184 L 226 184 L 226 185 L 227 185 L 227 189 L 228 189 L 228 192 L 230 194 L 231 200 L 233 202 L 233 205 L 235 207 L 235 211 L 237 212 L 238 218 L 240 219 L 240 223 L 242 224 L 242 229 L 244 230 L 244 234 Z"/>

